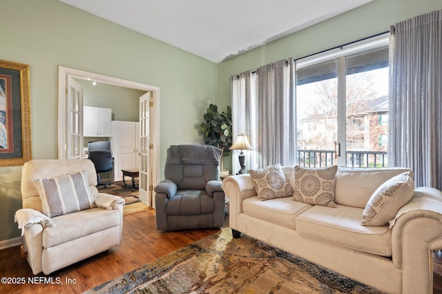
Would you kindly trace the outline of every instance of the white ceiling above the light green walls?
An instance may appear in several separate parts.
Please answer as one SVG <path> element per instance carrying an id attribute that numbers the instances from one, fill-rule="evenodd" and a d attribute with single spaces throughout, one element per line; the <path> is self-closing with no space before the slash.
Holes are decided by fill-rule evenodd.
<path id="1" fill-rule="evenodd" d="M 373 0 L 59 0 L 219 63 Z"/>

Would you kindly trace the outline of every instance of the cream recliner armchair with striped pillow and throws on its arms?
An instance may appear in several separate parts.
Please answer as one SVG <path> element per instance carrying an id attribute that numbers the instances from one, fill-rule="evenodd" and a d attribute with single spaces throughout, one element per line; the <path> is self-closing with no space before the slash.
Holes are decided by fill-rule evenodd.
<path id="1" fill-rule="evenodd" d="M 43 186 L 39 187 L 36 182 L 39 182 L 38 179 L 62 177 L 68 178 L 68 184 L 72 182 L 77 185 L 75 178 L 73 180 L 73 177 L 67 176 L 73 174 L 84 180 L 82 189 L 90 188 L 90 203 L 87 207 L 79 208 L 79 211 L 66 210 L 57 216 L 59 213 L 48 211 L 48 201 L 41 201 L 39 193 Z M 84 175 L 83 178 L 81 175 Z M 61 207 L 66 209 L 75 197 L 64 187 L 64 183 L 66 180 L 59 180 L 55 190 L 62 199 Z M 22 253 L 28 259 L 32 273 L 48 275 L 119 244 L 122 239 L 124 199 L 99 193 L 96 185 L 95 167 L 88 159 L 30 160 L 23 165 L 23 209 L 15 213 L 15 219 L 22 230 Z M 53 216 L 48 217 L 51 213 Z"/>

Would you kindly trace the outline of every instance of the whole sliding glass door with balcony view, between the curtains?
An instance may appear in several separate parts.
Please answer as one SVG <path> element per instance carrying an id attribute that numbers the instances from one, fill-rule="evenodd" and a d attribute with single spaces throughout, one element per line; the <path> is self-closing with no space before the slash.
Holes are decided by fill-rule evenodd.
<path id="1" fill-rule="evenodd" d="M 388 56 L 383 35 L 296 62 L 296 164 L 305 152 L 318 166 L 387 162 Z"/>

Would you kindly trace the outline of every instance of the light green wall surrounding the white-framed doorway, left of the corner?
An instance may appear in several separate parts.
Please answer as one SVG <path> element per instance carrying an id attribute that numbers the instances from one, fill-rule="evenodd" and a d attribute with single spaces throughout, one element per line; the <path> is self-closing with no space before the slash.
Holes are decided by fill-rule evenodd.
<path id="1" fill-rule="evenodd" d="M 0 59 L 30 65 L 32 158 L 57 158 L 58 66 L 160 87 L 160 166 L 173 144 L 204 144 L 217 65 L 57 0 L 0 0 Z M 167 134 L 163 136 L 162 134 Z M 0 241 L 19 237 L 21 167 L 0 167 Z"/>

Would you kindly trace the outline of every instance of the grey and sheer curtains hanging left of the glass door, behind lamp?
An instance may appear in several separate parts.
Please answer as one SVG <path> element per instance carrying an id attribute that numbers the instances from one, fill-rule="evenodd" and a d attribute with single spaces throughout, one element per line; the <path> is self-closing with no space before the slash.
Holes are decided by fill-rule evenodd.
<path id="1" fill-rule="evenodd" d="M 247 169 L 295 164 L 294 81 L 291 59 L 259 67 L 256 74 L 232 76 L 233 140 L 244 133 L 254 148 L 247 151 Z M 233 157 L 233 167 L 238 170 L 238 154 Z"/>

